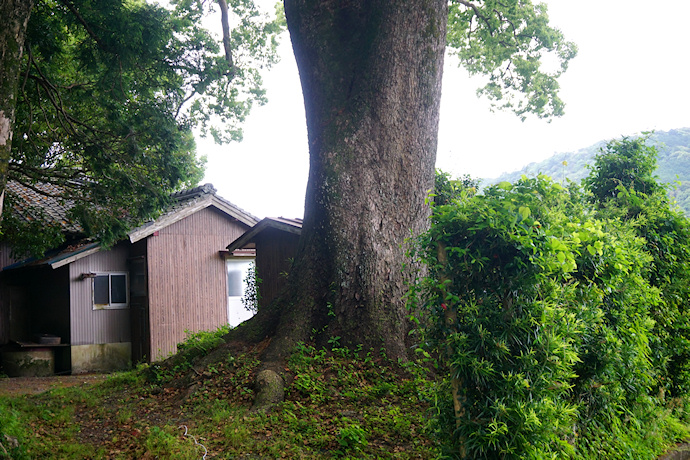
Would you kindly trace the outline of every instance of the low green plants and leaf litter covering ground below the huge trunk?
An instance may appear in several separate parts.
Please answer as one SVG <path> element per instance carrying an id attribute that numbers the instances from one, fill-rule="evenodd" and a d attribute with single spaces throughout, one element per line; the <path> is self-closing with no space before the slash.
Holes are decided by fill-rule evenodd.
<path id="1" fill-rule="evenodd" d="M 337 338 L 328 349 L 302 343 L 286 363 L 285 401 L 253 412 L 265 344 L 221 345 L 209 359 L 223 332 L 195 334 L 170 360 L 99 385 L 0 398 L 0 458 L 437 457 L 422 367 Z"/>

